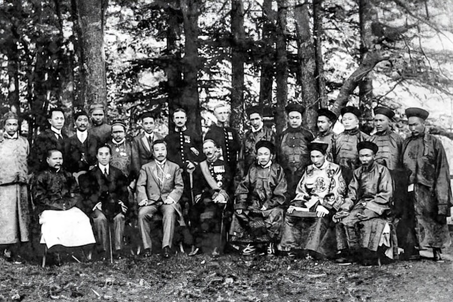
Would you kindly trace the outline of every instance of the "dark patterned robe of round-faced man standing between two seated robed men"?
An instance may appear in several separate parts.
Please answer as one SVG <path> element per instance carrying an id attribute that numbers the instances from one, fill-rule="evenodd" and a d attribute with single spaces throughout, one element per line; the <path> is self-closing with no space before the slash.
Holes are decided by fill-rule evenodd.
<path id="1" fill-rule="evenodd" d="M 287 194 L 291 199 L 305 168 L 311 163 L 308 145 L 313 138 L 312 132 L 302 127 L 288 127 L 281 133 L 277 158 L 284 170 L 288 184 Z"/>

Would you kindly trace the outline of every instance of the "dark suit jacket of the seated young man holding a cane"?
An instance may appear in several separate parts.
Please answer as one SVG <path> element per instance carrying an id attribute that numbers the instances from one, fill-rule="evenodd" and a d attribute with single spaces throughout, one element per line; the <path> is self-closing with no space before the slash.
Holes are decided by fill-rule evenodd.
<path id="1" fill-rule="evenodd" d="M 127 178 L 121 170 L 112 165 L 109 167 L 108 177 L 99 169 L 99 166 L 96 166 L 79 177 L 79 185 L 84 196 L 86 213 L 90 213 L 98 202 L 102 202 L 103 212 L 107 217 L 113 218 L 121 212 L 119 201 L 129 206 Z"/>

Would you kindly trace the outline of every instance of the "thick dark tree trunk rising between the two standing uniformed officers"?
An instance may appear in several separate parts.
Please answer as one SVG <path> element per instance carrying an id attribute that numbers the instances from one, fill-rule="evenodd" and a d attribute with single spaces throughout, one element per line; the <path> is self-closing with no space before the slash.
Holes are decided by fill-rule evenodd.
<path id="1" fill-rule="evenodd" d="M 180 0 L 180 8 L 184 24 L 184 58 L 183 65 L 183 90 L 181 100 L 184 100 L 187 112 L 187 128 L 199 135 L 201 140 L 201 108 L 198 100 L 198 15 L 201 0 Z"/>

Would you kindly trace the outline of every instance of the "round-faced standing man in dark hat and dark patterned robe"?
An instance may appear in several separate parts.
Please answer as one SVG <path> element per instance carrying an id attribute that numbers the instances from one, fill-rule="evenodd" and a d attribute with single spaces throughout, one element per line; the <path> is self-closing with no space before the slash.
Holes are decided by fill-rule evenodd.
<path id="1" fill-rule="evenodd" d="M 288 195 L 292 199 L 295 188 L 310 165 L 309 143 L 313 140 L 312 132 L 302 127 L 302 116 L 305 107 L 289 104 L 285 108 L 288 114 L 288 127 L 281 133 L 278 159 L 288 183 Z"/>

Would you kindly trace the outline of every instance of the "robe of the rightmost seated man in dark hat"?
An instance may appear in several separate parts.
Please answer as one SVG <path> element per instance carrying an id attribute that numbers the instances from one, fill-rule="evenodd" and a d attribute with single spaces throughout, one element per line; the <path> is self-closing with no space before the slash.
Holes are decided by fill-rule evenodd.
<path id="1" fill-rule="evenodd" d="M 388 223 L 392 196 L 393 182 L 389 169 L 374 162 L 369 167 L 354 170 L 347 198 L 338 210 L 338 213 L 347 214 L 336 224 L 338 249 L 378 251 Z M 370 213 L 367 220 L 360 220 L 357 216 L 367 212 Z"/>

